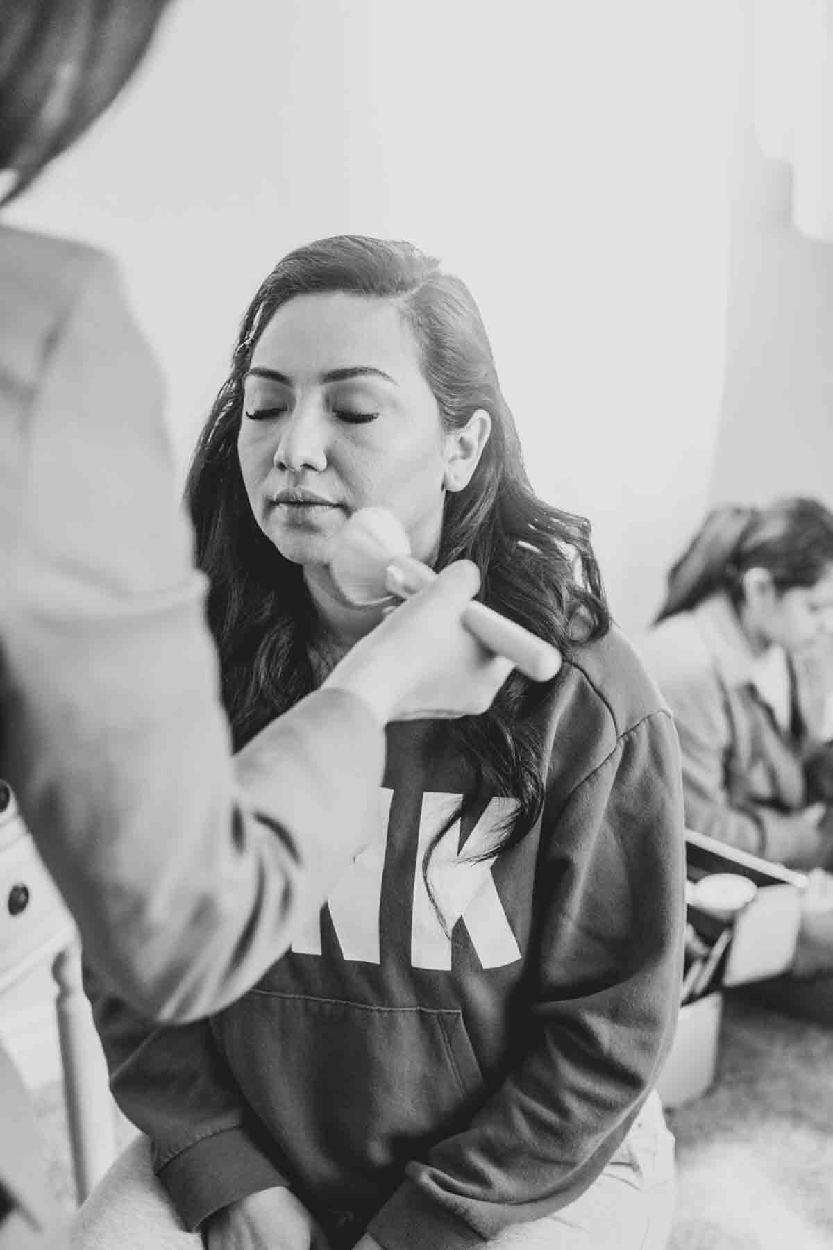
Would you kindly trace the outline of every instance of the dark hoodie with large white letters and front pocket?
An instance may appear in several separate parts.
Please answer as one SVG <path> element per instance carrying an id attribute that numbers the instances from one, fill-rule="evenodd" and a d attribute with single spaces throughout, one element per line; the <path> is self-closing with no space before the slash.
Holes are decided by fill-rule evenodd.
<path id="1" fill-rule="evenodd" d="M 601 1174 L 677 1015 L 679 756 L 616 631 L 564 664 L 541 722 L 542 819 L 495 862 L 473 856 L 511 800 L 452 826 L 430 869 L 445 929 L 421 862 L 468 782 L 436 725 L 395 725 L 373 845 L 255 990 L 154 1029 L 89 982 L 189 1228 L 291 1185 L 336 1245 L 368 1224 L 386 1250 L 462 1250 Z"/>

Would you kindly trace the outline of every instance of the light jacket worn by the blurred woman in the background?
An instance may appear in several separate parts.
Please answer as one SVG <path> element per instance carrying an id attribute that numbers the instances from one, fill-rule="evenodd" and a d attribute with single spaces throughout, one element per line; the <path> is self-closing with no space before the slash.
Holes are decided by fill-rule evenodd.
<path id="1" fill-rule="evenodd" d="M 739 850 L 812 866 L 818 812 L 833 799 L 833 754 L 814 729 L 818 689 L 781 654 L 787 701 L 781 715 L 724 594 L 654 625 L 639 642 L 668 700 L 683 759 L 686 822 Z M 773 659 L 778 659 L 774 655 Z"/>

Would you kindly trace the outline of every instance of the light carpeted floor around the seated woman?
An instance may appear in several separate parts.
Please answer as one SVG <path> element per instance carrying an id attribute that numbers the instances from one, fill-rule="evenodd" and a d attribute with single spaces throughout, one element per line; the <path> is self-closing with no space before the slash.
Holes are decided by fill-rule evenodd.
<path id="1" fill-rule="evenodd" d="M 37 1102 L 52 1185 L 71 1210 L 60 1086 Z M 679 1166 L 669 1250 L 833 1248 L 833 1030 L 728 998 L 717 1084 L 668 1120 Z M 131 1131 L 120 1121 L 119 1140 Z"/>

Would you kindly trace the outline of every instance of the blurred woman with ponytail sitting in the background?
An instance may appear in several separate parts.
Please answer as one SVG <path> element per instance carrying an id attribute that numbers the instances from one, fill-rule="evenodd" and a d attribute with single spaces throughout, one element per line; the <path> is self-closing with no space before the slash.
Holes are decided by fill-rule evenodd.
<path id="1" fill-rule="evenodd" d="M 833 514 L 811 499 L 713 510 L 641 649 L 677 722 L 688 828 L 792 869 L 833 862 L 833 751 L 813 680 L 832 635 Z M 829 888 L 817 872 L 808 905 Z M 811 950 L 809 925 L 804 938 L 794 971 L 833 968 L 833 944 Z M 827 986 L 804 989 L 809 1014 L 833 1019 L 833 992 L 824 1006 Z M 783 992 L 804 1010 L 801 985 Z"/>

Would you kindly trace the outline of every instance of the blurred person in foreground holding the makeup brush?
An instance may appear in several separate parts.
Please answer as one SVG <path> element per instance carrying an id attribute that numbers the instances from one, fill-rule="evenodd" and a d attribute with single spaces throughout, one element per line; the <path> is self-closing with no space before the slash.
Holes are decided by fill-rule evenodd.
<path id="1" fill-rule="evenodd" d="M 5 200 L 116 98 L 165 8 L 0 5 Z M 386 722 L 482 711 L 511 668 L 461 625 L 478 586 L 462 562 L 232 758 L 191 542 L 114 265 L 0 226 L 0 776 L 86 959 L 180 1021 L 249 989 L 362 848 Z M 0 1109 L 0 1246 L 45 1245 L 44 1169 L 1 1051 Z"/>

